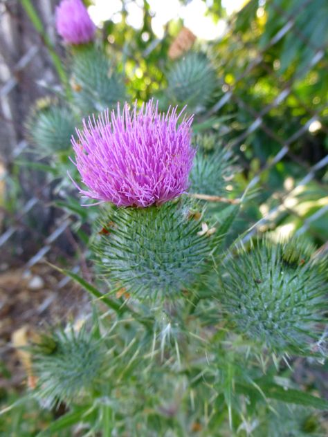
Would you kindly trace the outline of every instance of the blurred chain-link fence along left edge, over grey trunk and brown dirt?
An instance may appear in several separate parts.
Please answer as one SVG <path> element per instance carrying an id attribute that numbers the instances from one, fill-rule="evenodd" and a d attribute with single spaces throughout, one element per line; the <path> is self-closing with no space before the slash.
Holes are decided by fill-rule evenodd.
<path id="1" fill-rule="evenodd" d="M 55 3 L 33 1 L 54 45 Z M 61 49 L 56 46 L 56 50 Z M 78 245 L 70 229 L 72 219 L 51 205 L 53 184 L 47 182 L 42 171 L 20 163 L 23 158 L 35 160 L 26 141 L 25 122 L 30 108 L 57 84 L 44 39 L 31 24 L 21 2 L 1 0 L 0 390 L 19 387 L 25 378 L 12 348 L 15 333 L 61 322 L 72 313 L 83 311 L 83 302 L 86 303 L 80 289 L 67 277 L 39 263 L 49 252 L 53 256 L 48 259 L 66 259 L 78 251 Z M 80 270 L 80 266 L 83 261 L 73 270 Z M 3 369 L 10 369 L 8 375 Z"/>

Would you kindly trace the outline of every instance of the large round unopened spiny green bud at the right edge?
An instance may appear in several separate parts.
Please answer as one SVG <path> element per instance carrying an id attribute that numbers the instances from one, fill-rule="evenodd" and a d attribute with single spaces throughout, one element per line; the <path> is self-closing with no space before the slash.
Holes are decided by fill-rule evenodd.
<path id="1" fill-rule="evenodd" d="M 273 350 L 309 353 L 327 309 L 325 269 L 309 252 L 299 241 L 264 239 L 224 263 L 219 299 L 237 331 Z"/>

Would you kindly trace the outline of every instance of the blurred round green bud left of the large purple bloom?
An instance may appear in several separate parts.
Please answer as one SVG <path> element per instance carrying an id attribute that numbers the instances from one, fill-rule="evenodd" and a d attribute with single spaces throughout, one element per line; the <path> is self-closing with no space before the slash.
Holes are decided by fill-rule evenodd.
<path id="1" fill-rule="evenodd" d="M 76 119 L 66 106 L 35 108 L 27 122 L 28 140 L 45 154 L 69 149 Z"/>

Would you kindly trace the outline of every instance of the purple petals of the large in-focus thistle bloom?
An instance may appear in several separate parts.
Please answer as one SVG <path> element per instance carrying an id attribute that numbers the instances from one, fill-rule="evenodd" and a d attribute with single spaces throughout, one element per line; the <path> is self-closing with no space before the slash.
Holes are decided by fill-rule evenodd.
<path id="1" fill-rule="evenodd" d="M 181 111 L 182 113 L 183 111 Z M 192 116 L 176 108 L 158 113 L 158 102 L 127 103 L 120 113 L 104 111 L 97 119 L 83 120 L 78 140 L 72 139 L 78 171 L 89 190 L 80 193 L 117 206 L 161 205 L 183 194 L 194 160 Z"/>

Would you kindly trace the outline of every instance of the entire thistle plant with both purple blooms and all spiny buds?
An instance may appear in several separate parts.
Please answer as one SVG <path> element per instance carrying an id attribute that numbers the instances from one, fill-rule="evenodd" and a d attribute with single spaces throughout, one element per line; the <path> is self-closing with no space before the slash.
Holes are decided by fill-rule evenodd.
<path id="1" fill-rule="evenodd" d="M 104 437 L 306 434 L 300 420 L 275 423 L 277 413 L 298 419 L 303 407 L 328 407 L 292 380 L 294 357 L 325 360 L 327 257 L 300 239 L 249 239 L 247 225 L 236 235 L 248 199 L 237 189 L 226 196 L 235 151 L 212 124 L 194 133 L 219 85 L 212 62 L 195 52 L 174 62 L 164 91 L 173 106 L 161 112 L 154 98 L 126 95 L 80 0 L 62 1 L 57 30 L 69 102 L 60 93 L 28 130 L 54 160 L 71 140 L 65 163 L 74 212 L 93 230 L 93 283 L 62 272 L 92 295 L 93 314 L 31 348 L 32 396 L 66 407 L 44 432 L 73 435 L 82 424 Z"/>

